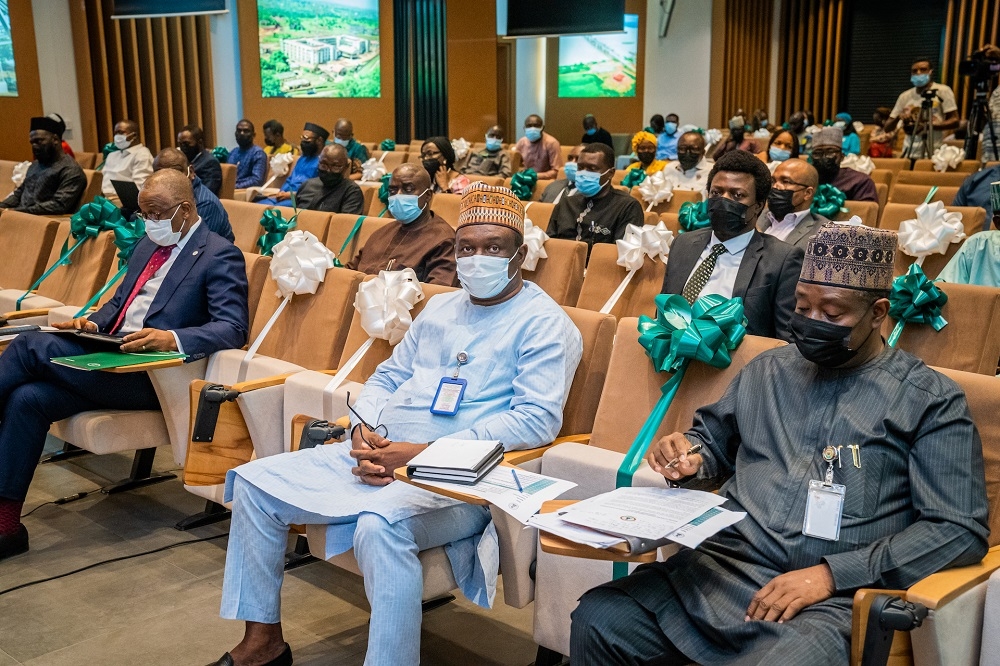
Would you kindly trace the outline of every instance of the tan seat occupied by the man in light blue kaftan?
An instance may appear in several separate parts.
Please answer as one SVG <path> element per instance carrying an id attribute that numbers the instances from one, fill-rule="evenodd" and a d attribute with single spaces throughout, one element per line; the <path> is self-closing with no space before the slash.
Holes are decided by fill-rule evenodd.
<path id="1" fill-rule="evenodd" d="M 565 308 L 583 336 L 583 356 L 573 378 L 573 387 L 566 401 L 561 435 L 587 430 L 593 423 L 596 399 L 601 394 L 611 346 L 614 339 L 614 318 L 595 312 Z M 324 415 L 324 418 L 329 416 Z M 557 447 L 558 448 L 558 447 Z M 541 449 L 520 452 L 524 457 L 537 456 Z M 517 455 L 518 452 L 514 452 Z M 526 469 L 538 470 L 538 458 L 520 463 Z M 504 600 L 514 608 L 523 608 L 534 596 L 535 583 L 531 565 L 535 555 L 534 530 L 526 529 L 507 514 L 491 508 L 500 545 L 500 570 L 503 574 Z M 326 529 L 322 525 L 307 527 L 310 552 L 325 559 Z M 330 558 L 331 563 L 360 574 L 354 551 Z M 451 565 L 443 547 L 431 548 L 420 553 L 424 569 L 424 599 L 434 599 L 450 593 L 456 583 Z"/>

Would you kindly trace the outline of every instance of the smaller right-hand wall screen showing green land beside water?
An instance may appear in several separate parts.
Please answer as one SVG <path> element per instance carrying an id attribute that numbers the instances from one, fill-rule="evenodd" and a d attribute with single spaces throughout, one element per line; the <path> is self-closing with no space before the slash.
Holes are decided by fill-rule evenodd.
<path id="1" fill-rule="evenodd" d="M 625 31 L 559 38 L 560 97 L 635 97 L 639 15 Z"/>

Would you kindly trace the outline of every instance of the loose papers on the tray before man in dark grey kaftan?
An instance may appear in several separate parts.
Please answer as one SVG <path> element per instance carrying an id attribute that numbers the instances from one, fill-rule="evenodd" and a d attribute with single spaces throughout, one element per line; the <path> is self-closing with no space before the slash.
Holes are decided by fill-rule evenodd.
<path id="1" fill-rule="evenodd" d="M 528 521 L 546 532 L 594 548 L 638 554 L 667 542 L 697 548 L 746 514 L 723 509 L 725 498 L 684 488 L 618 488 Z"/>

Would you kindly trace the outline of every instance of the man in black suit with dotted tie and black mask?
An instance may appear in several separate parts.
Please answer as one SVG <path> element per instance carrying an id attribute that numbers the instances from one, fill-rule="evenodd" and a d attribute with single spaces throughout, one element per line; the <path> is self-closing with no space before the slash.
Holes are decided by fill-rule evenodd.
<path id="1" fill-rule="evenodd" d="M 740 297 L 751 335 L 789 340 L 803 252 L 754 229 L 770 189 L 771 173 L 752 153 L 720 157 L 708 175 L 712 226 L 674 241 L 662 293 L 691 303 L 706 294 Z"/>

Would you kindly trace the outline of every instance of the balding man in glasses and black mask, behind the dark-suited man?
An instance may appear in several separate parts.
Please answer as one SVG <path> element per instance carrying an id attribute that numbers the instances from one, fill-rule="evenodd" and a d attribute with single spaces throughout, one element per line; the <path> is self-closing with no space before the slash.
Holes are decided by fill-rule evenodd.
<path id="1" fill-rule="evenodd" d="M 828 218 L 809 210 L 817 187 L 819 173 L 805 160 L 778 164 L 767 209 L 757 220 L 757 229 L 805 251 L 819 228 L 830 223 Z"/>

